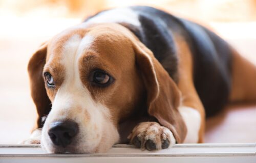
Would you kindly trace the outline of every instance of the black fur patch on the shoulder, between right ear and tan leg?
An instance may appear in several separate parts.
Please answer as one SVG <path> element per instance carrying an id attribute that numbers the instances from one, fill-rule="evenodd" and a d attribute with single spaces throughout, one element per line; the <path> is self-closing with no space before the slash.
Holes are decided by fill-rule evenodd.
<path id="1" fill-rule="evenodd" d="M 133 7 L 133 10 L 139 14 L 141 26 L 120 24 L 130 29 L 147 48 L 151 49 L 156 59 L 177 83 L 178 58 L 172 31 L 168 29 L 164 20 L 152 18 L 153 14 L 159 15 L 161 11 L 147 10 L 144 7 Z"/>

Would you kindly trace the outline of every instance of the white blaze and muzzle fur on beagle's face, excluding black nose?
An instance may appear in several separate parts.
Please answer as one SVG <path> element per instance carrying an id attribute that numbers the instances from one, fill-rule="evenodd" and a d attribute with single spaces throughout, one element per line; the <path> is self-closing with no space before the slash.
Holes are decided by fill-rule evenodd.
<path id="1" fill-rule="evenodd" d="M 48 152 L 63 152 L 52 144 L 49 125 L 56 121 L 72 120 L 79 132 L 65 151 L 104 152 L 118 141 L 118 132 L 110 119 L 109 109 L 94 101 L 79 74 L 79 59 L 93 42 L 93 37 L 73 35 L 63 45 L 60 64 L 65 67 L 65 79 L 59 87 L 45 125 L 42 129 L 42 147 Z M 105 137 L 108 135 L 108 137 Z"/>

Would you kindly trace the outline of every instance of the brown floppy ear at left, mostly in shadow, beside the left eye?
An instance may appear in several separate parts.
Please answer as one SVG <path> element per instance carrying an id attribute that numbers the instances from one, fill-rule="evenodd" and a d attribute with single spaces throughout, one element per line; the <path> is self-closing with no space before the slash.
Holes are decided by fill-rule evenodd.
<path id="1" fill-rule="evenodd" d="M 48 115 L 51 110 L 51 101 L 47 96 L 42 75 L 44 65 L 46 64 L 46 53 L 47 43 L 40 46 L 31 57 L 28 64 L 31 96 L 36 105 L 38 114 L 35 129 L 42 127 L 42 117 Z"/>

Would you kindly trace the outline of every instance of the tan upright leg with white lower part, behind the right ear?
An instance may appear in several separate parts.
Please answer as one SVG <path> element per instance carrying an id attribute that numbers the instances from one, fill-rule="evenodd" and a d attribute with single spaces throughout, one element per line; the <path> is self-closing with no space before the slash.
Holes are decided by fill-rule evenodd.
<path id="1" fill-rule="evenodd" d="M 204 106 L 197 94 L 193 80 L 193 59 L 187 42 L 176 37 L 180 63 L 178 88 L 181 91 L 182 101 L 179 107 L 187 127 L 184 143 L 203 143 L 205 130 Z"/>

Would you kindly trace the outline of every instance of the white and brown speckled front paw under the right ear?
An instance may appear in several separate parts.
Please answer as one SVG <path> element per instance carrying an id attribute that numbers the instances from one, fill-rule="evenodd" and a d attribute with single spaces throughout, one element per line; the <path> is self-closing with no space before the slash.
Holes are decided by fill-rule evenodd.
<path id="1" fill-rule="evenodd" d="M 142 150 L 166 149 L 175 144 L 173 133 L 157 122 L 139 123 L 128 136 L 130 143 Z"/>

